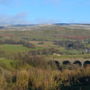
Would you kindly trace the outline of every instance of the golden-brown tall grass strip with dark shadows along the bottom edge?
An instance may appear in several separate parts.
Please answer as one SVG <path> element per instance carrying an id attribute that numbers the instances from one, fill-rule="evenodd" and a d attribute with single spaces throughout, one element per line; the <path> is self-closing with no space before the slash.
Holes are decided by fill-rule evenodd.
<path id="1" fill-rule="evenodd" d="M 90 85 L 90 68 L 61 72 L 26 65 L 14 71 L 0 68 L 0 72 L 0 90 L 62 90 L 67 86 Z"/>

